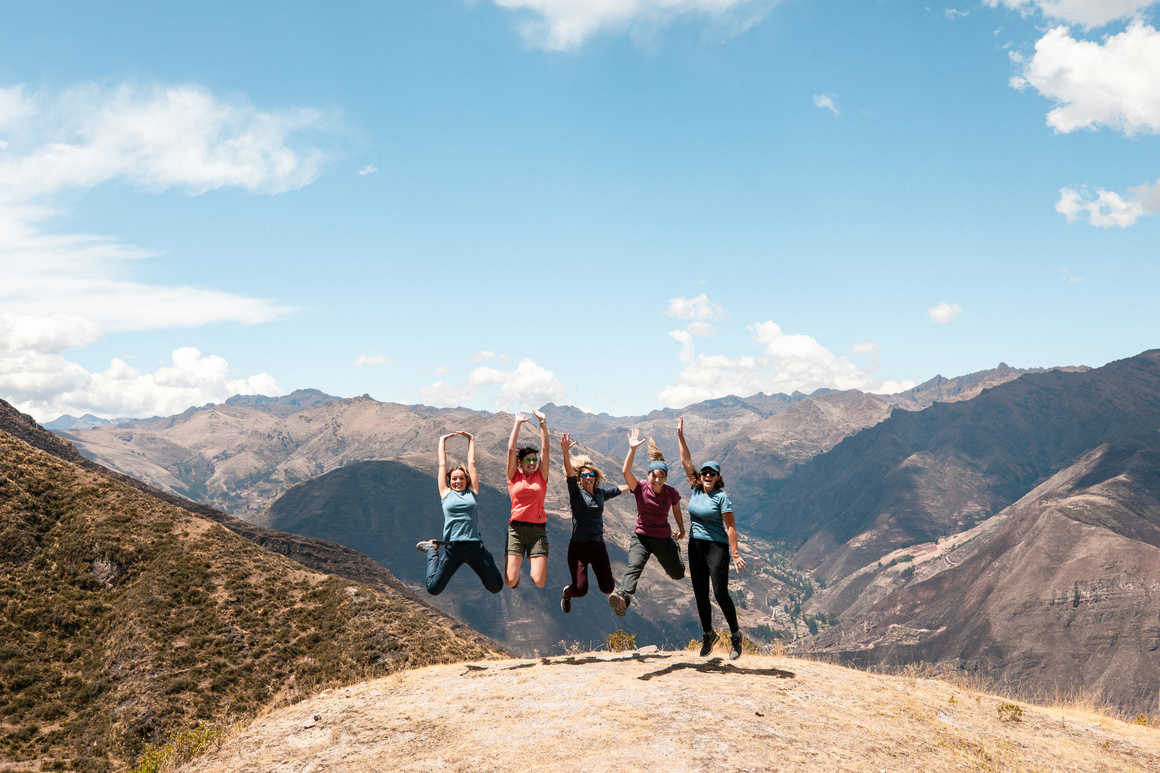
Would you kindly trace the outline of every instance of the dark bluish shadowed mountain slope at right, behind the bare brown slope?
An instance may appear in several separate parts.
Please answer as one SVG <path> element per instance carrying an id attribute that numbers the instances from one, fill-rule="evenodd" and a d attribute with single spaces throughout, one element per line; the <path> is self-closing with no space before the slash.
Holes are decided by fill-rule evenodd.
<path id="1" fill-rule="evenodd" d="M 1024 375 L 962 403 L 897 411 L 774 484 L 754 527 L 825 580 L 978 523 L 1102 443 L 1160 427 L 1160 351 Z"/>

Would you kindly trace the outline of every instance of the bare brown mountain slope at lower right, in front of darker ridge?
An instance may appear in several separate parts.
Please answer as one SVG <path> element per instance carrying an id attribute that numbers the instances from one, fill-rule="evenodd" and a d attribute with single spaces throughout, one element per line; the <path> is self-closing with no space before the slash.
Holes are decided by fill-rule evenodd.
<path id="1" fill-rule="evenodd" d="M 863 665 L 938 663 L 1029 696 L 1058 691 L 1158 710 L 1157 428 L 1145 442 L 1093 449 L 972 532 L 906 554 L 851 576 L 857 593 L 836 586 L 814 598 L 842 623 L 807 648 Z"/>

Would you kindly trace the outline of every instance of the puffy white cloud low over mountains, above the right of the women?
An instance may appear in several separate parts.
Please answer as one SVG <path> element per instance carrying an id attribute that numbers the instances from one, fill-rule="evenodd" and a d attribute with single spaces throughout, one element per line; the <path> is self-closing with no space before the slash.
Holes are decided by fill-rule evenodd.
<path id="1" fill-rule="evenodd" d="M 681 373 L 676 384 L 660 391 L 661 403 L 680 407 L 726 395 L 812 392 L 822 386 L 882 391 L 883 384 L 889 384 L 892 389 L 899 383 L 909 384 L 878 382 L 873 368 L 858 368 L 810 335 L 784 333 L 774 322 L 749 325 L 749 333 L 759 346 L 759 352 L 728 357 L 697 354 L 688 331 L 670 331 L 669 337 L 681 345 Z M 867 353 L 871 351 L 868 346 L 873 345 L 858 345 L 854 348 L 858 353 Z M 877 352 L 877 347 L 873 347 L 873 352 Z M 909 385 L 904 385 L 902 389 L 908 389 Z"/>

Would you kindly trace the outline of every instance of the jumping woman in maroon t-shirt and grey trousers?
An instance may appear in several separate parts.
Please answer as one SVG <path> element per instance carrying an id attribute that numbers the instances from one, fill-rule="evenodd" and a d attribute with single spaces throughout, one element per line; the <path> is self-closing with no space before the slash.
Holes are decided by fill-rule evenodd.
<path id="1" fill-rule="evenodd" d="M 665 569 L 673 579 L 684 577 L 684 562 L 681 561 L 681 549 L 677 540 L 684 537 L 684 516 L 681 514 L 681 494 L 676 489 L 666 485 L 668 464 L 655 443 L 648 443 L 648 481 L 641 483 L 632 475 L 632 458 L 637 448 L 644 445 L 639 429 L 629 433 L 629 455 L 624 457 L 624 482 L 637 500 L 637 527 L 629 541 L 629 563 L 624 569 L 624 579 L 608 597 L 612 612 L 623 615 L 637 592 L 637 580 L 651 556 Z M 669 513 L 676 521 L 676 539 L 668 526 Z"/>

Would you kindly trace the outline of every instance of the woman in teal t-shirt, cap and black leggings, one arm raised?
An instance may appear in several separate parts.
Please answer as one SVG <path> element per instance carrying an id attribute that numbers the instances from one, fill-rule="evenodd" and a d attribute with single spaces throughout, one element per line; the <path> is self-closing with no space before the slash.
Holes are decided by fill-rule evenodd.
<path id="1" fill-rule="evenodd" d="M 733 519 L 733 501 L 725 492 L 722 465 L 705 462 L 701 468 L 693 465 L 693 455 L 684 442 L 684 417 L 676 421 L 676 439 L 681 443 L 681 464 L 693 486 L 689 497 L 689 578 L 697 599 L 701 630 L 704 631 L 701 655 L 712 652 L 717 643 L 713 630 L 712 607 L 709 605 L 709 585 L 712 583 L 713 598 L 725 615 L 730 629 L 730 659 L 741 656 L 741 628 L 737 624 L 737 607 L 728 594 L 728 564 L 732 556 L 738 571 L 745 569 L 745 559 L 737 544 L 737 521 Z"/>

